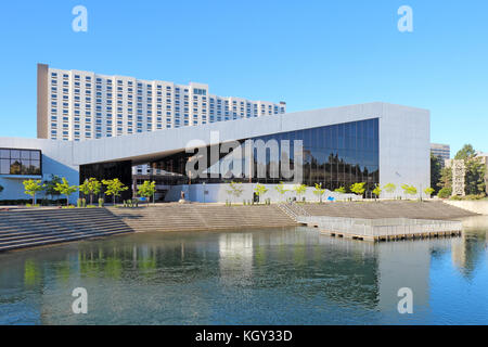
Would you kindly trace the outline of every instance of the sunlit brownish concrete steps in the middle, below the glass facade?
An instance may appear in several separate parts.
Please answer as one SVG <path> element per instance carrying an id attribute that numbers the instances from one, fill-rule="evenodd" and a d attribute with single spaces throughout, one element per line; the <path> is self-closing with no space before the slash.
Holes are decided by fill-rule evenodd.
<path id="1" fill-rule="evenodd" d="M 277 205 L 222 206 L 163 204 L 140 208 L 111 208 L 134 231 L 231 230 L 297 226 Z"/>

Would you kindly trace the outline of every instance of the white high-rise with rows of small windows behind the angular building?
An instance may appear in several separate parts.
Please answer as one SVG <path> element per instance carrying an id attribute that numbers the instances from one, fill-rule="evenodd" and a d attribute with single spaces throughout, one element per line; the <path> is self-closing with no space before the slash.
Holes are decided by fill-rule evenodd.
<path id="1" fill-rule="evenodd" d="M 65 70 L 38 64 L 38 138 L 84 141 L 284 114 L 284 102 L 217 97 L 208 86 Z M 138 174 L 144 174 L 139 167 Z"/>

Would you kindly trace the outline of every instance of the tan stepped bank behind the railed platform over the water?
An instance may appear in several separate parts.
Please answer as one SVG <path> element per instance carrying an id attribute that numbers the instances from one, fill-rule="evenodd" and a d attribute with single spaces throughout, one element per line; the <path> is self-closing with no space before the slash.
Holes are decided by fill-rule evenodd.
<path id="1" fill-rule="evenodd" d="M 351 203 L 306 204 L 301 207 L 310 216 L 356 217 L 356 218 L 414 218 L 414 219 L 453 219 L 476 214 L 444 204 L 424 201 L 377 201 Z"/>

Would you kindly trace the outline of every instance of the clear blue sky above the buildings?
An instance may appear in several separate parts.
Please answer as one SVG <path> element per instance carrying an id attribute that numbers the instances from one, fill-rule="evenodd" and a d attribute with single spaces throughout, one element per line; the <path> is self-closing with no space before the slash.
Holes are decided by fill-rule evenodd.
<path id="1" fill-rule="evenodd" d="M 88 31 L 75 33 L 75 5 Z M 400 33 L 400 5 L 413 33 Z M 9 1 L 0 136 L 36 137 L 37 63 L 209 85 L 288 112 L 384 101 L 428 108 L 432 142 L 488 152 L 488 1 Z"/>

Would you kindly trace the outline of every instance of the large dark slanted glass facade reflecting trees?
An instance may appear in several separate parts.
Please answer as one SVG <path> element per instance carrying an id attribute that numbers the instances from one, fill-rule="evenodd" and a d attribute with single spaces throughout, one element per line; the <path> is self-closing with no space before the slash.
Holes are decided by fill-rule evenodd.
<path id="1" fill-rule="evenodd" d="M 372 118 L 360 121 L 344 123 L 338 125 L 296 130 L 270 136 L 253 138 L 262 140 L 265 143 L 270 140 L 290 141 L 290 162 L 293 168 L 294 140 L 303 141 L 303 183 L 313 187 L 314 183 L 322 183 L 323 188 L 335 190 L 344 187 L 346 190 L 356 182 L 367 182 L 367 191 L 372 191 L 374 185 L 380 183 L 378 163 L 378 119 Z M 241 140 L 244 143 L 245 140 Z M 207 147 L 207 151 L 209 147 Z M 281 153 L 281 151 L 280 151 Z M 184 152 L 174 154 L 160 162 L 152 163 L 154 168 L 168 172 L 185 174 L 185 164 L 193 154 Z M 281 154 L 280 154 L 281 155 Z M 220 159 L 224 155 L 220 156 Z M 254 169 L 256 174 L 258 163 L 257 150 L 254 151 Z M 243 167 L 244 167 L 243 159 Z M 208 162 L 207 167 L 215 163 Z M 267 176 L 256 178 L 254 175 L 252 182 L 279 183 L 280 181 L 293 181 L 285 179 L 281 175 L 272 178 L 270 175 L 270 152 L 266 153 Z M 245 177 L 224 178 L 193 178 L 192 183 L 222 183 L 231 180 L 249 182 Z M 179 184 L 188 183 L 187 177 L 179 180 Z"/>

